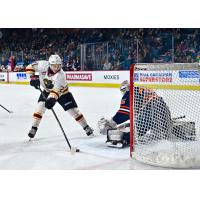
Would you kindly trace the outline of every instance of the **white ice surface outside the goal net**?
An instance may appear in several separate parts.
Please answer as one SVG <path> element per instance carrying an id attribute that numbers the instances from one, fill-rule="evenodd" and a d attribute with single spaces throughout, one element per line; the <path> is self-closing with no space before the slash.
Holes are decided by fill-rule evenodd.
<path id="1" fill-rule="evenodd" d="M 106 136 L 99 134 L 97 121 L 101 116 L 112 117 L 119 107 L 121 93 L 118 89 L 70 87 L 80 111 L 95 130 L 94 138 L 88 138 L 59 104 L 54 107 L 71 145 L 80 149 L 75 154 L 69 152 L 50 110 L 44 114 L 35 139 L 29 141 L 27 133 L 39 97 L 38 90 L 29 85 L 2 84 L 0 91 L 0 104 L 13 111 L 9 114 L 0 108 L 0 169 L 161 169 L 130 159 L 128 147 L 107 147 Z"/>

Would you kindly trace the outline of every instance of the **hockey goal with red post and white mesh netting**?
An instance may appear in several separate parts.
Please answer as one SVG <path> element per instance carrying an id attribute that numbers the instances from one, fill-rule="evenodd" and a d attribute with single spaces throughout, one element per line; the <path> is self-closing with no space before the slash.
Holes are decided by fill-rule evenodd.
<path id="1" fill-rule="evenodd" d="M 198 63 L 130 67 L 130 156 L 145 164 L 200 168 Z"/>

